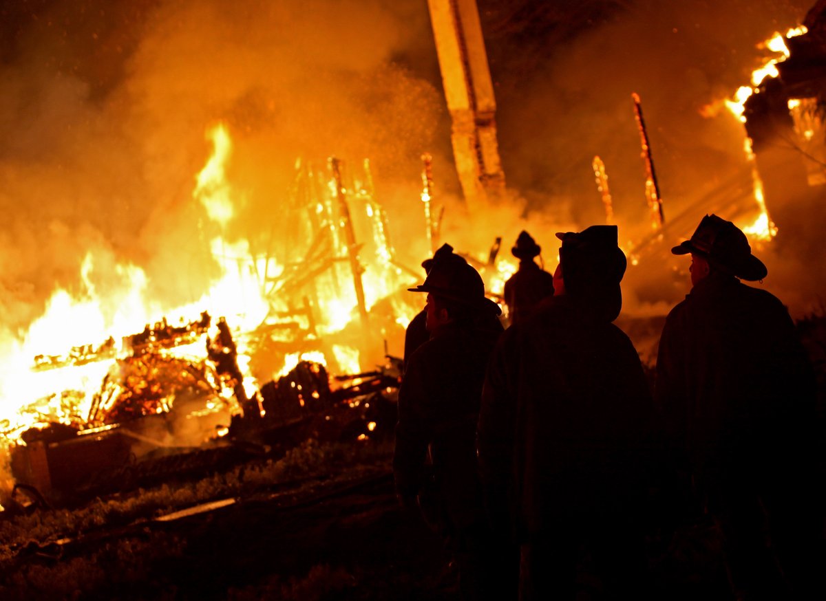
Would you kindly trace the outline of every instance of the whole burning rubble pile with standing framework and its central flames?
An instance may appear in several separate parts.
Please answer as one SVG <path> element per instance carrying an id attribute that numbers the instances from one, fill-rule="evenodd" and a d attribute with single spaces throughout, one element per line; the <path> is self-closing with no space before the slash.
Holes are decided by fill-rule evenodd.
<path id="1" fill-rule="evenodd" d="M 193 196 L 223 227 L 233 215 L 223 167 L 231 140 L 223 124 L 208 137 L 214 153 Z M 0 423 L 18 485 L 59 494 L 145 457 L 238 440 L 284 442 L 291 428 L 352 440 L 392 431 L 400 364 L 386 342 L 381 367 L 363 371 L 360 356 L 375 356 L 371 347 L 388 329 L 403 334 L 415 309 L 394 294 L 417 274 L 395 258 L 367 161 L 363 180 L 337 159 L 328 169 L 301 161 L 296 168 L 291 216 L 309 241 L 301 258 L 244 256 L 245 244 L 212 243 L 225 278 L 203 302 L 218 300 L 236 322 L 202 311 L 188 322 L 164 318 L 136 334 L 33 357 L 29 371 L 52 391 Z M 369 243 L 369 268 L 357 234 Z M 43 319 L 55 327 L 71 318 Z M 72 386 L 72 376 L 82 383 Z"/>

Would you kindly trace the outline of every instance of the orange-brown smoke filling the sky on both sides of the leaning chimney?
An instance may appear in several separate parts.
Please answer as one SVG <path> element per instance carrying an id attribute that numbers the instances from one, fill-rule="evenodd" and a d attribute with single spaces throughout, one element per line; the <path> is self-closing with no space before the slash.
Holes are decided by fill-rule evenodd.
<path id="1" fill-rule="evenodd" d="M 4 334 L 25 332 L 58 287 L 116 290 L 118 263 L 145 270 L 159 310 L 197 299 L 216 274 L 215 226 L 192 189 L 211 153 L 205 131 L 217 121 L 235 143 L 228 177 L 236 215 L 224 233 L 249 239 L 254 251 L 283 239 L 295 160 L 323 166 L 336 155 L 373 161 L 392 238 L 417 265 L 427 251 L 423 228 L 411 224 L 421 222 L 419 157 L 427 150 L 448 206 L 444 239 L 484 253 L 501 235 L 506 253 L 525 228 L 553 268 L 554 231 L 604 220 L 591 172 L 596 154 L 610 177 L 620 238 L 636 244 L 648 234 L 630 100 L 637 92 L 676 243 L 706 211 L 733 219 L 719 191 L 749 192 L 741 189 L 749 181 L 742 125 L 701 109 L 748 83 L 755 45 L 800 23 L 810 3 L 479 0 L 513 200 L 472 227 L 452 200 L 449 116 L 425 2 L 3 7 Z M 666 263 L 649 260 L 645 269 L 645 277 L 629 273 L 639 291 L 626 293 L 629 302 L 638 296 L 659 310 L 685 291 Z"/>

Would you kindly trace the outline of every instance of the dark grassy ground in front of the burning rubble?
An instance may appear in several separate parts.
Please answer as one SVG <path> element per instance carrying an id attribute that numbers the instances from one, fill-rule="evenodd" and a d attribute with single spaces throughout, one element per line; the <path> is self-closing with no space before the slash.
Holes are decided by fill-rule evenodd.
<path id="1" fill-rule="evenodd" d="M 396 507 L 387 443 L 308 443 L 199 481 L 5 516 L 0 545 L 2 599 L 458 599 L 439 537 Z M 650 551 L 662 599 L 730 598 L 713 528 L 655 537 Z M 580 599 L 600 598 L 585 553 L 578 581 Z"/>

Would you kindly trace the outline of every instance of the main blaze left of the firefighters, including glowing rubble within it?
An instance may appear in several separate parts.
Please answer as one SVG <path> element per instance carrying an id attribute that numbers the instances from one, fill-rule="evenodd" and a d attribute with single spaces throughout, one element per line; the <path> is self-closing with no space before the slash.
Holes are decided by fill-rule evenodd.
<path id="1" fill-rule="evenodd" d="M 358 373 L 366 367 L 358 343 L 346 337 L 335 338 L 358 317 L 358 295 L 349 285 L 347 267 L 341 260 L 349 251 L 358 252 L 358 248 L 349 248 L 347 236 L 341 231 L 344 223 L 335 206 L 336 192 L 349 195 L 354 209 L 360 211 L 358 220 L 367 223 L 369 242 L 375 246 L 370 262 L 359 267 L 364 309 L 371 310 L 377 301 L 411 281 L 411 274 L 393 263 L 386 217 L 372 191 L 359 182 L 351 191 L 330 179 L 330 194 L 311 201 L 308 208 L 315 213 L 318 231 L 333 248 L 328 249 L 325 272 L 314 279 L 315 299 L 296 298 L 306 292 L 301 286 L 290 287 L 285 276 L 287 266 L 273 256 L 254 256 L 246 239 L 225 238 L 238 195 L 226 177 L 233 150 L 228 126 L 211 126 L 207 140 L 213 151 L 194 178 L 192 199 L 221 232 L 210 242 L 221 277 L 198 300 L 169 309 L 153 300 L 140 267 L 118 263 L 114 270 L 124 285 L 108 292 L 115 299 L 104 299 L 89 277 L 97 259 L 88 253 L 79 274 L 83 291 L 74 295 L 66 290 L 55 291 L 45 313 L 4 357 L 0 437 L 23 443 L 21 434 L 36 424 L 85 429 L 140 414 L 161 413 L 168 411 L 175 400 L 182 402 L 199 392 L 206 398 L 203 410 L 226 405 L 230 413 L 239 413 L 239 396 L 255 399 L 263 384 L 251 369 L 256 350 L 266 346 L 267 340 L 278 342 L 279 336 L 289 346 L 291 339 L 283 333 L 296 328 L 305 332 L 306 339 L 293 345 L 296 350 L 278 354 L 268 365 L 266 376 L 278 378 L 305 361 L 321 365 L 334 362 L 344 373 Z M 367 162 L 364 167 L 369 174 Z M 372 186 L 369 178 L 367 182 Z M 301 266 L 292 267 L 292 273 L 300 270 Z M 118 310 L 107 319 L 102 306 L 110 305 L 112 300 L 116 300 Z M 297 305 L 302 309 L 297 310 Z M 387 306 L 390 320 L 401 328 L 415 314 L 415 309 L 402 302 Z M 168 323 L 166 318 L 159 322 L 161 315 L 181 316 L 180 323 Z M 219 316 L 221 319 L 216 319 Z M 209 349 L 226 334 L 221 328 L 231 331 L 239 382 L 222 381 L 218 373 L 225 348 L 219 345 L 212 357 L 218 359 L 218 371 L 205 361 L 205 354 L 211 354 Z M 325 350 L 320 344 L 312 348 L 322 336 L 336 342 L 326 345 Z M 234 394 L 234 385 L 242 386 L 243 393 L 236 389 Z M 113 405 L 118 399 L 136 397 L 141 400 L 136 409 Z"/>

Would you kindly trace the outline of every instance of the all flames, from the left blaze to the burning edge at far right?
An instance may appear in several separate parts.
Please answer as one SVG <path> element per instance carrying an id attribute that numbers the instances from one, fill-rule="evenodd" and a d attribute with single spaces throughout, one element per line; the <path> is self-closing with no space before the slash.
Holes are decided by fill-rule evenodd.
<path id="1" fill-rule="evenodd" d="M 763 78 L 776 76 L 776 64 L 789 55 L 786 38 L 803 33 L 800 27 L 767 40 L 763 46 L 771 57 L 754 69 L 752 85 L 722 106 L 743 121 L 743 104 Z M 300 217 L 296 239 L 306 244 L 291 254 L 262 253 L 260 244 L 239 236 L 240 228 L 234 227 L 244 193 L 229 176 L 234 154 L 230 125 L 211 125 L 206 137 L 211 154 L 192 175 L 191 201 L 208 226 L 201 231 L 210 237 L 218 277 L 196 300 L 162 305 L 143 268 L 126 261 L 112 265 L 111 258 L 88 252 L 78 274 L 82 286 L 55 291 L 43 315 L 4 349 L 0 442 L 20 441 L 36 424 L 102 427 L 124 415 L 113 405 L 124 396 L 140 396 L 139 409 L 151 413 L 167 411 L 174 400 L 202 390 L 206 409 L 228 407 L 236 414 L 243 410 L 240 396 L 255 400 L 266 381 L 285 376 L 301 362 L 330 365 L 331 371 L 345 374 L 369 370 L 373 357 L 365 348 L 380 346 L 387 328 L 403 329 L 420 309 L 411 304 L 417 300 L 396 294 L 424 274 L 396 260 L 368 161 L 348 163 L 344 173 L 336 159 L 322 166 L 298 160 L 293 213 Z M 746 152 L 754 165 L 750 147 Z M 597 159 L 594 174 L 605 218 L 612 222 L 605 164 Z M 423 160 L 424 190 L 416 205 L 425 213 L 421 233 L 432 251 L 438 246 L 441 212 L 434 204 L 432 157 L 425 154 Z M 752 239 L 771 240 L 776 226 L 756 167 L 752 173 L 759 215 L 753 223 L 738 225 Z M 626 252 L 636 265 L 638 256 Z M 515 260 L 493 253 L 474 260 L 491 296 L 501 299 L 504 282 L 517 269 Z M 92 274 L 103 269 L 113 272 L 118 286 L 106 291 L 97 286 Z M 104 310 L 112 306 L 114 312 Z M 208 345 L 221 338 L 219 324 L 231 329 L 237 377 L 222 375 L 207 361 Z M 150 355 L 133 354 L 130 341 L 136 336 L 150 343 Z M 220 357 L 223 351 L 215 353 Z M 164 388 L 161 379 L 175 379 L 175 386 Z"/>

